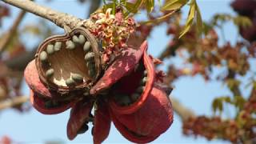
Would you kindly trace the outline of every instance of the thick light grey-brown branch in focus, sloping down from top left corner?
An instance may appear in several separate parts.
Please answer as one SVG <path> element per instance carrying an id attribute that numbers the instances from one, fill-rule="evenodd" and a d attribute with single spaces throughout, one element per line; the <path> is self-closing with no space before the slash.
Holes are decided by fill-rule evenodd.
<path id="1" fill-rule="evenodd" d="M 2 0 L 2 2 L 9 3 L 12 6 L 16 6 L 22 10 L 46 18 L 62 28 L 64 28 L 64 26 L 69 26 L 70 29 L 73 29 L 76 26 L 82 26 L 84 22 L 82 19 L 76 18 L 73 15 L 51 10 L 50 8 L 40 6 L 30 0 Z"/>

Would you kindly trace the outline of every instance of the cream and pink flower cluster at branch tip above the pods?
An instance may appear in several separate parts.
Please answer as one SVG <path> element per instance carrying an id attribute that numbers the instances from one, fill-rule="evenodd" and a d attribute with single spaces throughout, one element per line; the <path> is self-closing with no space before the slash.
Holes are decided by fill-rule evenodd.
<path id="1" fill-rule="evenodd" d="M 111 14 L 111 9 L 107 9 L 105 14 L 92 14 L 90 20 L 94 23 L 90 32 L 102 41 L 105 62 L 110 60 L 112 54 L 116 56 L 127 47 L 127 39 L 136 26 L 133 18 L 125 19 L 121 11 Z"/>

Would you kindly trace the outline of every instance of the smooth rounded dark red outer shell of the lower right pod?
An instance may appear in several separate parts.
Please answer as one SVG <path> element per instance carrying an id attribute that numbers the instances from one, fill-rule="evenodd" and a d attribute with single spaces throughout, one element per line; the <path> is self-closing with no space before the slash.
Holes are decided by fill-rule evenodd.
<path id="1" fill-rule="evenodd" d="M 154 86 L 144 105 L 133 114 L 118 114 L 110 109 L 110 115 L 120 133 L 136 143 L 154 141 L 173 122 L 170 99 L 159 86 Z"/>

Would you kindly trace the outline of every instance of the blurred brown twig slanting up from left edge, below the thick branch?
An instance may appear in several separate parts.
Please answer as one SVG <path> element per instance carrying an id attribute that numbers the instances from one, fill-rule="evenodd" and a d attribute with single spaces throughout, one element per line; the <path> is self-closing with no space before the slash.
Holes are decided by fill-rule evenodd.
<path id="1" fill-rule="evenodd" d="M 0 41 L 0 55 L 4 50 L 6 50 L 6 47 L 8 43 L 10 42 L 10 39 L 14 36 L 18 25 L 22 22 L 22 18 L 24 18 L 26 14 L 25 10 L 22 10 L 19 14 L 18 17 L 15 19 L 13 26 L 10 27 L 10 30 L 7 31 L 6 34 L 4 34 L 4 37 L 2 37 Z"/>

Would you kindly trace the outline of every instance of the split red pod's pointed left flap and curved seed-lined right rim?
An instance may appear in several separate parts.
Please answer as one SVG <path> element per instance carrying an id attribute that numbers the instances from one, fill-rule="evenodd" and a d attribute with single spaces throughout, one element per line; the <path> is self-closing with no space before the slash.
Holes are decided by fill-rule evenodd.
<path id="1" fill-rule="evenodd" d="M 140 50 L 123 50 L 121 57 L 106 70 L 90 93 L 97 94 L 114 85 L 111 91 L 116 94 L 115 97 L 121 98 L 122 94 L 128 94 L 130 98 L 136 98 L 132 98 L 134 100 L 129 106 L 120 106 L 112 98 L 111 109 L 118 114 L 132 114 L 138 110 L 150 94 L 155 77 L 154 66 L 146 54 L 146 48 L 147 42 L 143 42 Z"/>

